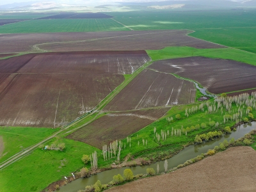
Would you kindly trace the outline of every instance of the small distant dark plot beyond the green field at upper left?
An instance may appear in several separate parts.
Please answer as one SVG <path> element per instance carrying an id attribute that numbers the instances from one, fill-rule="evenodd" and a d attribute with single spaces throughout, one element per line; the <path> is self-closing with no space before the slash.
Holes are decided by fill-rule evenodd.
<path id="1" fill-rule="evenodd" d="M 38 19 L 108 19 L 112 17 L 104 13 L 60 13 Z"/>

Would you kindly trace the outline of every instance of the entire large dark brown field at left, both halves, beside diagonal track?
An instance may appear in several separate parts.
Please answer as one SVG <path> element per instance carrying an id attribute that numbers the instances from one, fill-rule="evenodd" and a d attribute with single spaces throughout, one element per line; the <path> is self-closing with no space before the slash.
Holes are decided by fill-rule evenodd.
<path id="1" fill-rule="evenodd" d="M 0 125 L 67 124 L 148 60 L 145 51 L 55 52 L 0 60 Z"/>

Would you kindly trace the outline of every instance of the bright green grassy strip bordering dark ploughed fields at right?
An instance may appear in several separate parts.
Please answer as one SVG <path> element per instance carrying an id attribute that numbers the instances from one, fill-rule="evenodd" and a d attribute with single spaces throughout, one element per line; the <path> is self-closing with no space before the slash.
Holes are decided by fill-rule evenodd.
<path id="1" fill-rule="evenodd" d="M 196 49 L 193 47 L 166 47 L 160 50 L 147 50 L 147 53 L 153 61 L 190 56 L 204 56 L 207 58 L 235 60 L 256 66 L 256 54 L 232 48 Z"/>

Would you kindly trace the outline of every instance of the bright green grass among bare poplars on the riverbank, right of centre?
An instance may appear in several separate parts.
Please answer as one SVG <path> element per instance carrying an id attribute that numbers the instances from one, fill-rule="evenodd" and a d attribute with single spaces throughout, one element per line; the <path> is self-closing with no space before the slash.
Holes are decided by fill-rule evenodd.
<path id="1" fill-rule="evenodd" d="M 198 106 L 199 104 L 193 104 L 193 105 L 187 105 L 187 106 L 173 106 L 173 108 L 168 112 L 164 118 L 161 120 L 158 120 L 147 127 L 141 129 L 140 131 L 132 134 L 131 136 L 131 148 L 127 147 L 124 150 L 122 150 L 122 157 L 125 157 L 126 154 L 131 154 L 133 158 L 136 157 L 144 157 L 145 159 L 150 159 L 151 161 L 159 161 L 163 158 L 173 156 L 176 152 L 179 152 L 181 148 L 183 148 L 186 145 L 190 145 L 194 142 L 196 134 L 203 134 L 210 131 L 223 131 L 224 127 L 229 126 L 233 127 L 236 125 L 235 120 L 227 120 L 225 123 L 223 122 L 223 115 L 225 114 L 235 114 L 237 113 L 238 107 L 235 104 L 232 104 L 232 109 L 226 110 L 223 109 L 223 112 L 221 110 L 217 110 L 216 112 L 205 112 L 207 111 L 207 107 L 204 107 L 204 112 L 197 111 L 196 113 L 193 113 L 189 115 L 189 117 L 185 116 L 185 108 L 193 108 L 195 106 Z M 246 108 L 244 108 L 245 110 Z M 180 114 L 181 118 L 180 120 L 177 120 L 175 118 L 176 114 Z M 256 111 L 252 111 L 253 116 L 256 115 Z M 243 118 L 247 117 L 245 115 L 245 111 L 243 111 Z M 242 118 L 242 121 L 243 121 Z M 209 122 L 214 121 L 218 122 L 219 125 L 217 127 L 209 125 Z M 172 127 L 173 130 L 178 129 L 186 129 L 186 127 L 191 128 L 191 126 L 195 126 L 196 124 L 201 125 L 202 123 L 205 123 L 207 127 L 194 131 L 189 131 L 186 134 L 184 132 L 181 133 L 180 136 L 171 136 Z M 166 136 L 166 140 L 162 139 L 162 136 L 160 138 L 160 141 L 158 142 L 156 139 L 156 134 L 154 134 L 154 127 L 156 127 L 157 134 L 161 134 L 161 131 L 167 132 L 169 130 L 170 135 Z M 173 131 L 174 132 L 174 131 Z M 143 145 L 143 140 L 147 140 L 147 146 Z M 129 146 L 129 143 L 127 143 L 126 140 L 122 140 L 124 143 L 126 143 L 127 146 Z"/>

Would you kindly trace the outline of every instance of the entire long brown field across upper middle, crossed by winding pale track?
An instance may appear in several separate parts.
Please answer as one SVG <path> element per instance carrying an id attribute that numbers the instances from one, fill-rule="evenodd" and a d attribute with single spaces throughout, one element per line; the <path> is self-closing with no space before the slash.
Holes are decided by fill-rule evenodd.
<path id="1" fill-rule="evenodd" d="M 223 46 L 186 36 L 191 31 L 111 31 L 92 33 L 0 34 L 0 52 L 47 51 L 134 51 L 167 46 L 222 48 Z M 54 43 L 55 42 L 55 43 Z M 38 45 L 42 44 L 42 45 Z"/>

